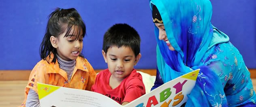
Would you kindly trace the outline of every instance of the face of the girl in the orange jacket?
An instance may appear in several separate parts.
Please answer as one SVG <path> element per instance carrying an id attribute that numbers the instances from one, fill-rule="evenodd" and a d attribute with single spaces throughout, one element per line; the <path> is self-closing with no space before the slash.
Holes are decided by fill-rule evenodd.
<path id="1" fill-rule="evenodd" d="M 80 35 L 77 40 L 78 27 L 74 26 L 70 30 L 68 36 L 64 37 L 66 33 L 60 34 L 58 38 L 51 36 L 51 42 L 53 47 L 57 49 L 57 54 L 66 61 L 77 59 L 83 48 L 83 36 Z M 66 32 L 66 31 L 65 31 Z"/>

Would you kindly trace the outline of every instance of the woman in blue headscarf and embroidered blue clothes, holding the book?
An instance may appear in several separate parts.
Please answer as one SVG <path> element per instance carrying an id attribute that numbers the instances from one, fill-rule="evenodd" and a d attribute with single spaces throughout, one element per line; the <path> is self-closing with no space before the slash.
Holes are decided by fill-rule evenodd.
<path id="1" fill-rule="evenodd" d="M 152 89 L 200 68 L 186 107 L 256 107 L 250 72 L 228 36 L 211 25 L 209 0 L 151 0 L 150 7 L 158 43 Z"/>

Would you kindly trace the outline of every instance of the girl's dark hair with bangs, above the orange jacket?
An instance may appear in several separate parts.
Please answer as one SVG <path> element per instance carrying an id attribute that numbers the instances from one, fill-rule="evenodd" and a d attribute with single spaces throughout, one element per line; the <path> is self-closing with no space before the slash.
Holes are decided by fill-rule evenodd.
<path id="1" fill-rule="evenodd" d="M 61 9 L 56 8 L 55 11 L 53 11 L 48 16 L 48 23 L 45 31 L 45 36 L 43 38 L 43 41 L 40 45 L 40 56 L 41 59 L 46 60 L 48 63 L 50 63 L 51 54 L 53 54 L 53 60 L 51 63 L 56 62 L 56 55 L 57 50 L 51 45 L 50 37 L 58 37 L 60 34 L 66 33 L 64 37 L 69 36 L 70 31 L 72 30 L 72 27 L 77 26 L 77 35 L 75 40 L 78 40 L 79 36 L 85 36 L 85 23 L 83 22 L 81 16 L 77 12 L 75 8 L 68 8 L 68 9 Z M 65 30 L 67 31 L 65 32 Z M 74 32 L 73 32 L 74 33 Z M 47 56 L 49 55 L 49 58 Z M 83 55 L 80 53 L 80 57 L 83 57 Z M 83 57 L 84 58 L 84 57 Z"/>

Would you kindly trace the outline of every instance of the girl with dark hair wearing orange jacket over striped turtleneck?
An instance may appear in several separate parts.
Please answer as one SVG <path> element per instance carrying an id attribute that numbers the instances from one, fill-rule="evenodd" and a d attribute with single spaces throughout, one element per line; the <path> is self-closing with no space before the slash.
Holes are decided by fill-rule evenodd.
<path id="1" fill-rule="evenodd" d="M 41 43 L 41 61 L 32 69 L 20 107 L 40 107 L 37 82 L 91 90 L 96 73 L 82 56 L 85 24 L 75 10 L 57 8 L 49 15 Z"/>

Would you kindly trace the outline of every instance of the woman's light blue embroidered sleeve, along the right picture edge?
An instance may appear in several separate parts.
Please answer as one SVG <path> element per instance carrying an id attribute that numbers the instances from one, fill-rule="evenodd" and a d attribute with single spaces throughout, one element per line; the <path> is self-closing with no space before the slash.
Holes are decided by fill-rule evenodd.
<path id="1" fill-rule="evenodd" d="M 229 105 L 247 106 L 254 102 L 254 92 L 250 72 L 248 71 L 239 50 L 230 42 L 216 47 L 217 52 L 209 55 L 205 63 L 218 75 Z M 249 107 L 249 106 L 248 106 Z"/>

